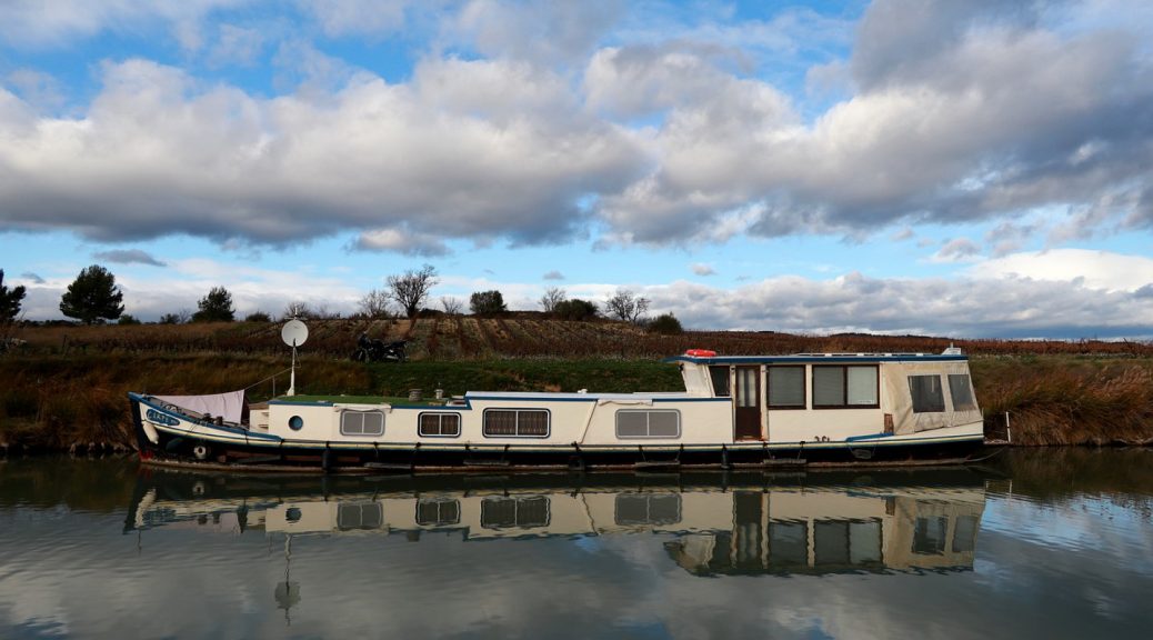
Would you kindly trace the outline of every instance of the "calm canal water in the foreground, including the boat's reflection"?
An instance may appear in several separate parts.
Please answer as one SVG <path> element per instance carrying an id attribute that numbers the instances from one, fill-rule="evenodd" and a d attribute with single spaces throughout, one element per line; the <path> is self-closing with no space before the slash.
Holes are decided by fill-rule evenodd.
<path id="1" fill-rule="evenodd" d="M 1153 450 L 270 477 L 0 461 L 0 638 L 1150 638 Z"/>

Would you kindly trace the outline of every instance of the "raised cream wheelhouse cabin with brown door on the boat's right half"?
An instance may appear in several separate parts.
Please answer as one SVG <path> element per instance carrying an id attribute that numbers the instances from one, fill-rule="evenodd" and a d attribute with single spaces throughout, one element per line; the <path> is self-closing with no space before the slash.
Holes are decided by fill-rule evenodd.
<path id="1" fill-rule="evenodd" d="M 665 361 L 680 366 L 689 396 L 732 399 L 736 441 L 846 441 L 981 422 L 969 360 L 952 347 L 767 356 L 693 349 Z"/>

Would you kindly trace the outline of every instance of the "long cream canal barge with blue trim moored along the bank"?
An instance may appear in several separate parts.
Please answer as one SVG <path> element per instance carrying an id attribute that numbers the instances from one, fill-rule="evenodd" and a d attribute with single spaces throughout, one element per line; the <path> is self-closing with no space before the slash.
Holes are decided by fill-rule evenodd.
<path id="1" fill-rule="evenodd" d="M 152 465 L 270 472 L 940 464 L 984 445 L 967 357 L 665 359 L 677 393 L 470 391 L 429 401 L 129 393 Z"/>

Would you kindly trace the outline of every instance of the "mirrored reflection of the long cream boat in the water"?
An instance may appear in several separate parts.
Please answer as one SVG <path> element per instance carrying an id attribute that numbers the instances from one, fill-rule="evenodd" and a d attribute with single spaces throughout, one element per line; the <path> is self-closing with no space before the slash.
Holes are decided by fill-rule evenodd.
<path id="1" fill-rule="evenodd" d="M 985 481 L 958 470 L 796 475 L 234 477 L 153 472 L 126 533 L 155 527 L 267 536 L 387 535 L 461 542 L 663 534 L 696 575 L 967 571 Z"/>

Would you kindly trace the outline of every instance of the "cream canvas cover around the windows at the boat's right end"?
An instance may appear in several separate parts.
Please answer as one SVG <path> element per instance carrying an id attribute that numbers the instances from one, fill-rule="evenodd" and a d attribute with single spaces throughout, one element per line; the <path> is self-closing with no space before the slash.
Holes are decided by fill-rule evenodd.
<path id="1" fill-rule="evenodd" d="M 889 412 L 892 414 L 894 434 L 914 434 L 944 427 L 959 427 L 981 421 L 981 409 L 974 399 L 973 408 L 955 411 L 949 393 L 949 375 L 969 375 L 969 362 L 894 362 L 883 367 L 884 387 L 889 396 Z M 944 411 L 913 413 L 913 401 L 909 393 L 909 376 L 941 376 Z M 972 385 L 972 379 L 970 379 Z"/>

